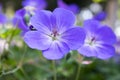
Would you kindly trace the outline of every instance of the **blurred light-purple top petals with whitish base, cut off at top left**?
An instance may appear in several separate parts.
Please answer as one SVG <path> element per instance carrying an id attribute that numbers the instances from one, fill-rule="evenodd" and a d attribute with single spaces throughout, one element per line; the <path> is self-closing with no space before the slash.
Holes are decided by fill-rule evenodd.
<path id="1" fill-rule="evenodd" d="M 45 9 L 47 3 L 45 0 L 24 0 L 22 5 L 26 10 L 34 13 L 36 10 Z"/>

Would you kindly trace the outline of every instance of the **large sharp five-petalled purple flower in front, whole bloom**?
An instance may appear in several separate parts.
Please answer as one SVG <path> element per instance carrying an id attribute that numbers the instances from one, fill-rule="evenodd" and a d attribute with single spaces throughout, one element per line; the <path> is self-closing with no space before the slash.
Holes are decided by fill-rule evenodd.
<path id="1" fill-rule="evenodd" d="M 84 43 L 84 30 L 74 26 L 75 16 L 71 11 L 61 8 L 53 13 L 41 10 L 31 18 L 30 23 L 37 30 L 25 33 L 24 41 L 29 47 L 42 50 L 47 59 L 61 59 Z"/>

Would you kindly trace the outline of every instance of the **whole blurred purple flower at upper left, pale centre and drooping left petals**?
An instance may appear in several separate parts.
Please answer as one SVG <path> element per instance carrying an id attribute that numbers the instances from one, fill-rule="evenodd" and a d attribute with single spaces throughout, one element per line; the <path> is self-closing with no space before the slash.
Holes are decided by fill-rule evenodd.
<path id="1" fill-rule="evenodd" d="M 13 24 L 14 26 L 17 25 L 23 31 L 22 34 L 24 35 L 28 30 L 34 29 L 29 24 L 29 20 L 35 14 L 36 10 L 41 10 L 46 7 L 46 2 L 45 0 L 24 0 L 22 5 L 24 8 L 16 11 Z"/>

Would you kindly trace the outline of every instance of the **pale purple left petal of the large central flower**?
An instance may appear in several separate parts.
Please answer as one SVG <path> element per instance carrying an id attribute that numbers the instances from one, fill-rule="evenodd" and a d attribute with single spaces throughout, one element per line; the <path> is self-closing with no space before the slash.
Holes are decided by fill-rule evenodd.
<path id="1" fill-rule="evenodd" d="M 48 49 L 52 43 L 52 39 L 40 31 L 28 31 L 24 41 L 30 48 L 38 50 Z"/>

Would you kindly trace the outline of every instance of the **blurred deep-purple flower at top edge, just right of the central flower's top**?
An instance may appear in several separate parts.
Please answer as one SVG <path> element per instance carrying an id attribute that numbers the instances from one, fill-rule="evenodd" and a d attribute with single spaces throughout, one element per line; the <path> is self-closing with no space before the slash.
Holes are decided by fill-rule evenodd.
<path id="1" fill-rule="evenodd" d="M 79 7 L 76 4 L 66 4 L 63 2 L 63 0 L 57 0 L 58 7 L 68 9 L 72 11 L 73 13 L 77 14 L 79 12 Z"/>

